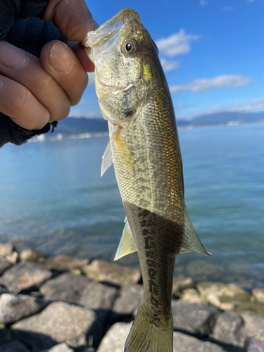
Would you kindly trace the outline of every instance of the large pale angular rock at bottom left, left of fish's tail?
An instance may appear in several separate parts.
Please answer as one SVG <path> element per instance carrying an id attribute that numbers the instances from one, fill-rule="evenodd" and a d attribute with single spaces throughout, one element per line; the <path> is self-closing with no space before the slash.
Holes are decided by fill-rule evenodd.
<path id="1" fill-rule="evenodd" d="M 32 351 L 42 351 L 65 342 L 73 348 L 85 346 L 89 336 L 94 346 L 102 337 L 102 327 L 93 310 L 65 302 L 54 302 L 42 313 L 12 325 L 16 337 Z"/>

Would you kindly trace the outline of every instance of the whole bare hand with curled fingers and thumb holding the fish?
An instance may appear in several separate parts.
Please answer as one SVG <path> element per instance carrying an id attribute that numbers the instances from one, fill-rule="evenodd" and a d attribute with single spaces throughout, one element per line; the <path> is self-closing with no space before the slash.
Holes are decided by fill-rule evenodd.
<path id="1" fill-rule="evenodd" d="M 26 130 L 40 130 L 50 120 L 67 117 L 87 87 L 87 71 L 94 70 L 77 43 L 99 27 L 85 1 L 49 0 L 44 20 L 53 21 L 70 47 L 49 42 L 39 59 L 0 42 L 0 112 Z"/>

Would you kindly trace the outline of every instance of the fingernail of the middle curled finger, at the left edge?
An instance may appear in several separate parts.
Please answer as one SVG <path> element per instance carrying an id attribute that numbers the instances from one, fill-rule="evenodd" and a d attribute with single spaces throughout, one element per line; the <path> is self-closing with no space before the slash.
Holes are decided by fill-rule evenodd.
<path id="1" fill-rule="evenodd" d="M 22 68 L 27 65 L 30 59 L 25 51 L 9 44 L 0 42 L 0 64 L 8 68 Z"/>

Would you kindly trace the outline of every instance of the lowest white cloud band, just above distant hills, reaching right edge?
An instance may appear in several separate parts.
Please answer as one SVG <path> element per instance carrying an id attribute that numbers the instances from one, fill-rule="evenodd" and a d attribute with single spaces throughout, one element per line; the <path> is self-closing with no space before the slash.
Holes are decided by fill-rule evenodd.
<path id="1" fill-rule="evenodd" d="M 251 101 L 242 101 L 230 105 L 215 105 L 195 113 L 177 114 L 177 118 L 191 119 L 201 115 L 209 115 L 211 113 L 262 113 L 264 112 L 264 99 L 256 99 Z"/>

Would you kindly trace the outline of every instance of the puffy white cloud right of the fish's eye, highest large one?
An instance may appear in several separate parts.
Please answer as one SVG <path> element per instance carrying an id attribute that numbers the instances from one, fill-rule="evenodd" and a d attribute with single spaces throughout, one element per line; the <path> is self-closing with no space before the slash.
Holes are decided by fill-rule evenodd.
<path id="1" fill-rule="evenodd" d="M 186 34 L 182 29 L 168 38 L 158 39 L 156 44 L 161 54 L 172 57 L 188 54 L 191 50 L 191 41 L 197 39 L 199 39 L 199 35 Z"/>

